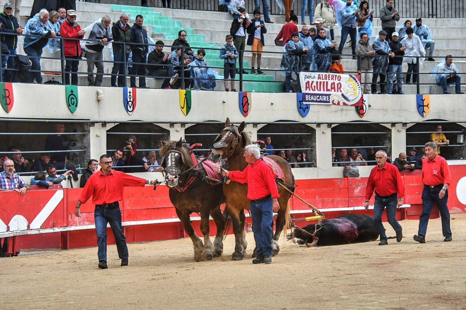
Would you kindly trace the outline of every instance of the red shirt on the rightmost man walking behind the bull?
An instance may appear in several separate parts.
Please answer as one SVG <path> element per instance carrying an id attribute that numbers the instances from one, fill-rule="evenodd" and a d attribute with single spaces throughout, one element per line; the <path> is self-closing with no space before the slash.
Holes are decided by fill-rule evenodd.
<path id="1" fill-rule="evenodd" d="M 433 160 L 425 158 L 422 162 L 422 183 L 424 185 L 444 185 L 452 183 L 452 174 L 445 158 L 440 155 Z"/>

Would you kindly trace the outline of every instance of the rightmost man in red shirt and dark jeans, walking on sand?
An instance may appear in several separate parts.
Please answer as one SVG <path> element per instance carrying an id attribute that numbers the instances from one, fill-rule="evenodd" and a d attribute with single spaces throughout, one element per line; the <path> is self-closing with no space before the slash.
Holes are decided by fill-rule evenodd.
<path id="1" fill-rule="evenodd" d="M 418 234 L 414 235 L 414 240 L 425 243 L 425 233 L 427 223 L 431 216 L 432 207 L 437 204 L 442 218 L 442 232 L 445 239 L 452 241 L 452 231 L 450 229 L 450 211 L 446 205 L 448 200 L 448 185 L 452 183 L 452 175 L 445 158 L 437 154 L 437 144 L 427 142 L 425 144 L 425 154 L 427 158 L 422 162 L 422 213 L 419 217 Z"/>

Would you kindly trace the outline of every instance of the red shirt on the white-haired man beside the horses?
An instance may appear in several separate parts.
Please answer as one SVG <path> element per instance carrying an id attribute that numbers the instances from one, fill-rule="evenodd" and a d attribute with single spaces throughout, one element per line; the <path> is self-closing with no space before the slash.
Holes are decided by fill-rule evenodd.
<path id="1" fill-rule="evenodd" d="M 230 171 L 229 177 L 233 181 L 247 183 L 247 198 L 251 200 L 264 198 L 268 194 L 272 194 L 272 198 L 280 197 L 274 171 L 262 158 L 247 165 L 243 171 Z"/>

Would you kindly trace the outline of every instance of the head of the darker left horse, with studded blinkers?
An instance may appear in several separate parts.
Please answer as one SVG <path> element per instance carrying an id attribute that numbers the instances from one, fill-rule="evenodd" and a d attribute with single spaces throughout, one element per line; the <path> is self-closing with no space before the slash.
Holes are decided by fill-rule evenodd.
<path id="1" fill-rule="evenodd" d="M 160 155 L 162 156 L 161 166 L 164 168 L 165 181 L 168 187 L 178 185 L 181 172 L 186 168 L 189 156 L 183 148 L 183 141 L 180 138 L 176 141 L 161 140 L 162 147 L 160 148 Z M 186 159 L 187 158 L 187 159 Z"/>

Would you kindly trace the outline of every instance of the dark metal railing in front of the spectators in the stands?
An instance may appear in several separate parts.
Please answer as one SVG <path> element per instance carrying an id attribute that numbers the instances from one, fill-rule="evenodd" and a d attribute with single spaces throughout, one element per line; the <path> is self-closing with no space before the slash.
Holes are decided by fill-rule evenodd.
<path id="1" fill-rule="evenodd" d="M 0 34 L 6 34 L 6 35 L 16 35 L 16 36 L 32 36 L 32 37 L 38 37 L 38 38 L 43 38 L 41 36 L 37 36 L 37 35 L 29 35 L 29 34 L 18 34 L 18 33 L 2 33 L 0 32 Z M 80 41 L 80 39 L 74 39 L 74 38 L 61 38 L 61 37 L 55 37 L 53 38 L 53 40 L 61 40 L 61 46 L 62 46 L 62 49 L 63 49 L 63 42 L 64 40 L 75 40 L 75 41 Z M 100 40 L 85 40 L 87 42 L 100 42 Z M 148 63 L 139 63 L 139 62 L 130 62 L 130 61 L 126 61 L 126 46 L 128 44 L 130 44 L 132 47 L 137 47 L 137 46 L 161 46 L 161 45 L 156 45 L 156 44 L 142 44 L 142 43 L 128 43 L 128 42 L 119 42 L 119 41 L 114 41 L 113 43 L 118 43 L 118 44 L 122 44 L 123 45 L 123 61 L 110 61 L 110 60 L 102 60 L 102 63 L 105 65 L 105 64 L 112 64 L 112 65 L 115 65 L 115 64 L 123 64 L 123 67 L 126 68 L 128 65 L 142 65 L 142 66 L 146 66 L 146 67 L 155 67 L 155 68 L 173 68 L 174 72 L 175 73 L 178 73 L 178 80 L 181 80 L 181 83 L 179 83 L 179 88 L 194 88 L 195 87 L 195 83 L 194 81 L 195 80 L 201 80 L 201 81 L 215 81 L 216 83 L 218 82 L 221 82 L 221 81 L 224 81 L 224 79 L 219 79 L 219 78 L 207 78 L 207 77 L 192 77 L 191 75 L 190 76 L 185 76 L 185 73 L 188 73 L 190 72 L 190 68 L 191 67 L 197 67 L 197 68 L 211 68 L 211 69 L 216 69 L 218 71 L 221 72 L 221 70 L 223 69 L 222 66 L 189 66 L 189 64 L 186 64 L 184 63 L 184 61 L 181 61 L 181 63 L 179 65 L 174 65 L 174 64 L 163 64 L 163 65 L 159 65 L 159 64 L 148 64 Z M 164 45 L 164 47 L 182 47 L 181 48 L 181 55 L 179 56 L 179 59 L 184 59 L 185 57 L 185 47 L 184 46 L 169 46 L 169 45 Z M 221 50 L 220 47 L 196 47 L 196 46 L 191 46 L 192 49 L 204 49 L 206 50 L 206 53 L 208 53 L 209 55 L 211 54 L 210 52 L 214 53 L 214 54 L 217 54 L 219 55 L 219 51 Z M 250 53 L 251 51 L 248 51 L 248 50 L 240 50 L 239 51 L 239 54 L 240 54 L 240 57 L 239 59 L 242 59 L 243 58 L 243 54 L 244 53 Z M 271 56 L 283 56 L 283 52 L 269 52 L 269 51 L 263 51 L 261 52 L 263 53 L 263 56 L 266 56 L 266 55 L 271 55 Z M 319 54 L 313 54 L 313 55 L 319 55 Z M 8 56 L 8 57 L 15 57 L 15 55 L 2 55 L 1 54 L 1 51 L 0 51 L 0 58 L 2 57 L 5 57 L 5 56 Z M 63 55 L 57 55 L 58 58 L 53 58 L 53 57 L 37 57 L 37 56 L 28 56 L 30 59 L 50 59 L 50 60 L 60 60 L 61 64 L 61 70 L 60 71 L 52 71 L 52 70 L 47 70 L 47 68 L 45 68 L 46 70 L 29 70 L 30 73 L 54 73 L 54 74 L 61 74 L 62 76 L 62 82 L 64 82 L 64 77 L 71 74 L 71 78 L 69 79 L 69 83 L 71 83 L 71 80 L 73 79 L 73 75 L 75 75 L 75 78 L 79 75 L 85 75 L 87 76 L 88 75 L 88 72 L 74 72 L 74 71 L 66 71 L 65 70 L 65 63 L 68 62 L 68 61 L 85 61 L 86 63 L 89 62 L 89 61 L 92 61 L 92 62 L 95 62 L 94 60 L 88 60 L 88 59 L 75 59 L 75 58 L 69 58 L 69 57 L 65 57 Z M 352 56 L 352 55 L 345 55 L 345 54 L 340 54 L 340 56 Z M 358 55 L 359 58 L 361 57 L 365 57 L 365 56 L 368 56 L 368 55 Z M 147 57 L 147 56 L 146 56 Z M 404 56 L 395 56 L 395 57 L 404 57 Z M 439 57 L 439 56 L 436 56 L 436 57 Z M 421 57 L 416 57 L 418 60 L 421 58 Z M 455 57 L 456 59 L 459 59 L 459 58 L 463 58 L 463 59 L 466 59 L 466 57 Z M 220 58 L 219 58 L 220 59 Z M 317 72 L 317 71 L 309 71 L 309 70 L 302 70 L 302 68 L 304 67 L 303 63 L 302 63 L 302 57 L 300 57 L 300 67 L 299 67 L 299 70 L 298 71 L 304 71 L 304 72 Z M 360 68 L 361 68 L 361 62 L 358 61 L 358 71 L 349 71 L 349 70 L 346 70 L 345 73 L 348 73 L 348 74 L 358 74 L 360 72 Z M 244 71 L 244 67 L 243 67 L 243 61 L 239 61 L 239 64 L 237 66 L 237 70 L 239 71 L 239 73 L 237 73 L 237 75 L 239 76 L 238 79 L 236 79 L 236 82 L 239 82 L 239 91 L 243 91 L 244 87 L 246 85 L 243 85 L 245 82 L 254 82 L 254 84 L 258 85 L 257 83 L 267 83 L 267 84 L 270 84 L 270 83 L 280 83 L 281 85 L 283 83 L 285 83 L 285 85 L 287 84 L 286 81 L 283 81 L 283 77 L 281 75 L 286 75 L 286 76 L 289 76 L 291 74 L 291 71 L 294 71 L 294 70 L 288 70 L 288 69 L 284 69 L 284 70 L 281 70 L 280 68 L 278 69 L 274 69 L 274 68 L 268 68 L 268 69 L 261 69 L 261 71 L 263 72 L 266 72 L 268 74 L 272 74 L 272 75 L 275 75 L 274 77 L 274 80 L 273 81 L 266 81 L 266 80 L 257 80 L 257 79 L 248 79 L 247 76 L 245 76 L 243 74 L 243 71 Z M 20 69 L 14 69 L 14 68 L 10 68 L 10 67 L 7 67 L 7 68 L 4 68 L 3 70 L 0 70 L 0 82 L 4 82 L 4 81 L 11 81 L 11 78 L 12 78 L 12 74 L 11 73 L 14 73 L 14 72 L 18 72 L 20 71 Z M 419 70 L 418 70 L 419 71 Z M 8 76 L 8 79 L 4 79 L 4 72 L 8 72 L 10 73 L 9 76 Z M 324 72 L 328 72 L 328 71 L 324 71 Z M 281 73 L 281 74 L 278 74 L 278 73 Z M 92 73 L 94 76 L 97 75 L 97 73 Z M 102 75 L 103 77 L 111 77 L 113 76 L 114 78 L 123 78 L 123 86 L 128 86 L 127 85 L 127 78 L 130 77 L 131 79 L 133 79 L 133 82 L 134 82 L 134 85 L 131 85 L 131 87 L 136 87 L 136 80 L 135 78 L 138 77 L 138 78 L 146 78 L 146 79 L 151 79 L 151 78 L 154 78 L 154 79 L 170 79 L 171 76 L 153 76 L 153 75 L 137 75 L 137 74 L 133 74 L 133 72 L 131 71 L 130 69 L 130 73 L 126 73 L 126 70 L 123 70 L 123 74 L 121 73 L 99 73 L 100 75 Z M 189 73 L 191 74 L 191 73 Z M 390 72 L 383 72 L 383 74 L 387 75 L 387 74 L 390 74 Z M 432 80 L 432 83 L 421 83 L 420 82 L 420 77 L 421 76 L 424 76 L 424 75 L 431 75 L 432 73 L 420 73 L 420 72 L 417 72 L 417 73 L 412 73 L 414 75 L 416 75 L 418 77 L 417 79 L 417 82 L 416 82 L 416 92 L 419 94 L 421 93 L 421 89 L 420 89 L 420 86 L 423 86 L 423 85 L 430 85 L 430 86 L 437 86 L 438 84 L 435 83 L 435 80 L 434 78 L 432 77 L 431 80 Z M 278 79 L 278 80 L 277 80 Z M 230 79 L 226 79 L 226 81 L 230 81 Z M 29 81 L 30 82 L 30 81 Z M 189 84 L 188 84 L 189 83 Z M 132 84 L 132 83 L 131 83 Z M 186 84 L 188 84 L 186 86 Z M 250 84 L 253 84 L 253 83 L 250 83 Z M 372 81 L 370 82 L 364 82 L 364 83 L 361 83 L 361 84 L 372 84 Z M 382 84 L 382 85 L 388 85 L 388 79 L 387 81 L 385 81 L 384 83 L 378 83 L 379 85 Z M 464 84 L 464 83 L 463 83 Z M 462 84 L 462 85 L 463 85 Z M 141 86 L 141 83 L 139 84 Z M 260 84 L 260 85 L 263 85 L 263 84 Z M 299 79 L 298 81 L 295 81 L 295 82 L 290 82 L 290 85 L 293 85 L 293 86 L 296 86 L 296 89 L 297 91 L 299 92 L 301 90 L 301 87 L 300 87 L 300 83 L 299 83 Z M 110 85 L 109 85 L 110 86 Z M 185 86 L 185 87 L 183 87 Z M 193 87 L 191 87 L 193 86 Z M 175 87 L 177 88 L 177 86 L 172 86 L 172 87 Z M 251 88 L 251 87 L 254 87 L 254 85 L 248 85 L 248 88 Z"/>

